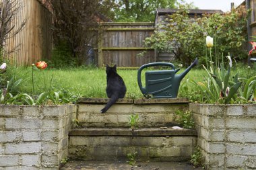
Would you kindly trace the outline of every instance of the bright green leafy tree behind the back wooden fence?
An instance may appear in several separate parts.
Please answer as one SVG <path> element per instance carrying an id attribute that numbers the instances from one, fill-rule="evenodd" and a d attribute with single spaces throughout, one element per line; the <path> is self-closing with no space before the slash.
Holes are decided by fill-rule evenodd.
<path id="1" fill-rule="evenodd" d="M 174 8 L 177 0 L 117 0 L 117 22 L 154 22 L 156 8 Z"/>

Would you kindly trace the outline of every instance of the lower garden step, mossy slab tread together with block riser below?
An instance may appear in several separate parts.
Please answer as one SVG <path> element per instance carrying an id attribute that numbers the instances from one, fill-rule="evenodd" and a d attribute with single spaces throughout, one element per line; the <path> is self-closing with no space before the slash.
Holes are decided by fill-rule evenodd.
<path id="1" fill-rule="evenodd" d="M 82 128 L 69 133 L 69 157 L 87 161 L 126 161 L 137 151 L 139 161 L 187 161 L 196 146 L 195 130 Z"/>

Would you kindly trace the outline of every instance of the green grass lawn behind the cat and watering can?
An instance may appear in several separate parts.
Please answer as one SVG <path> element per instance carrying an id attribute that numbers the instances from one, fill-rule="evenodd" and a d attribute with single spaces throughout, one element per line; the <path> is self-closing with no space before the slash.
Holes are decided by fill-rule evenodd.
<path id="1" fill-rule="evenodd" d="M 182 73 L 183 70 L 178 73 Z M 244 69 L 241 72 L 245 73 Z M 126 98 L 143 98 L 141 91 L 137 85 L 137 69 L 118 69 L 117 73 L 123 77 L 127 86 Z M 7 73 L 9 78 L 15 76 L 15 79 L 24 79 L 24 82 L 18 89 L 21 93 L 32 94 L 32 68 L 18 67 L 13 69 L 9 67 Z M 142 83 L 145 83 L 145 71 L 141 73 Z M 192 69 L 183 79 L 194 79 L 195 81 L 203 81 L 206 75 L 203 69 Z M 45 85 L 44 85 L 45 77 Z M 51 79 L 52 85 L 51 85 Z M 183 83 L 183 82 L 182 82 Z M 182 84 L 181 83 L 181 84 Z M 47 91 L 49 87 L 54 87 L 56 90 L 65 89 L 79 97 L 103 97 L 106 98 L 106 72 L 104 69 L 97 68 L 65 68 L 65 69 L 50 69 L 46 68 L 43 71 L 34 71 L 34 94 L 40 94 Z M 191 89 L 193 90 L 193 89 Z M 179 91 L 181 97 L 189 97 L 189 94 Z"/>

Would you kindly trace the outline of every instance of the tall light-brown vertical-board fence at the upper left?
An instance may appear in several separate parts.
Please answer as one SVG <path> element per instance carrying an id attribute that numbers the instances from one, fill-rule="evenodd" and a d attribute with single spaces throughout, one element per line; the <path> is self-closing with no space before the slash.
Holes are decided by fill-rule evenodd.
<path id="1" fill-rule="evenodd" d="M 5 42 L 5 56 L 17 65 L 31 65 L 42 58 L 50 58 L 52 51 L 52 13 L 38 0 L 16 0 L 21 9 L 13 19 L 15 26 Z M 26 24 L 13 36 L 22 21 Z"/>

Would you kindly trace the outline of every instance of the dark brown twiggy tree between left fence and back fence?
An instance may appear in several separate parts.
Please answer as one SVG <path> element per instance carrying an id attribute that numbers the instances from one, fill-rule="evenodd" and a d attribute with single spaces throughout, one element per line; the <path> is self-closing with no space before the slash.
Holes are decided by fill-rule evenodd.
<path id="1" fill-rule="evenodd" d="M 111 0 L 49 0 L 53 8 L 55 46 L 69 47 L 77 65 L 82 64 L 87 44 L 97 35 L 98 15 L 109 13 Z"/>

